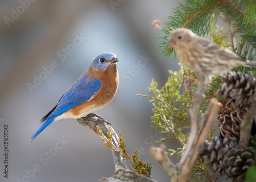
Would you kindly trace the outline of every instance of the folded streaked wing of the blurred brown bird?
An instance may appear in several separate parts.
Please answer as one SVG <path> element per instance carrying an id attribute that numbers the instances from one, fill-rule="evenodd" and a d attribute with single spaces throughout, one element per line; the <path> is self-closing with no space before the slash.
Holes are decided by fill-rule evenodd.
<path id="1" fill-rule="evenodd" d="M 200 43 L 204 46 L 206 54 L 218 55 L 222 60 L 238 59 L 241 61 L 246 61 L 246 58 L 242 58 L 236 53 L 233 53 L 231 50 L 212 43 L 207 39 L 201 39 Z"/>

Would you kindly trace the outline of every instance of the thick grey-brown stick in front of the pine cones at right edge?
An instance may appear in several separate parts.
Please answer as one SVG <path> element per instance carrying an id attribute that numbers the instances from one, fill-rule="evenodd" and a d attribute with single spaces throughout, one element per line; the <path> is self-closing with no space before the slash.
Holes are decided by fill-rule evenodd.
<path id="1" fill-rule="evenodd" d="M 249 111 L 245 114 L 243 121 L 241 123 L 239 146 L 242 148 L 248 146 L 249 144 L 251 127 L 255 119 L 255 115 L 256 115 L 256 103 L 254 103 L 253 106 L 250 107 Z"/>

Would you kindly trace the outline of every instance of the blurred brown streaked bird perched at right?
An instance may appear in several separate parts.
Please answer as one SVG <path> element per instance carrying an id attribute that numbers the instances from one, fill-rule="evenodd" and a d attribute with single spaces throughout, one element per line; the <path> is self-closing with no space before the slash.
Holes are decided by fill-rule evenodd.
<path id="1" fill-rule="evenodd" d="M 256 63 L 185 28 L 170 32 L 167 45 L 176 49 L 178 58 L 188 69 L 205 76 L 209 81 L 211 76 L 221 75 L 237 66 L 256 67 Z"/>

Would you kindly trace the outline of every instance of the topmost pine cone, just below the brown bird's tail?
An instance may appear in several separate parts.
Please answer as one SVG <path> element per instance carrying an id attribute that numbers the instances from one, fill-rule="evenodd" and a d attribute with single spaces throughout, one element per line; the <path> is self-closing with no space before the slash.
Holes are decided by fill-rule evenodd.
<path id="1" fill-rule="evenodd" d="M 256 100 L 256 79 L 249 71 L 242 74 L 241 72 L 229 72 L 222 78 L 222 84 L 219 94 L 230 98 L 230 103 L 234 108 L 244 110 L 251 106 Z"/>

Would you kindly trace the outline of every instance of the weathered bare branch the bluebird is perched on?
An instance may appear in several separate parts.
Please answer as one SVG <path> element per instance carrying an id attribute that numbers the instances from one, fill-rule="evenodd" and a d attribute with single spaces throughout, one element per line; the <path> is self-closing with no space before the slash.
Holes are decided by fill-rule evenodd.
<path id="1" fill-rule="evenodd" d="M 90 129 L 92 129 L 94 132 L 96 132 L 96 125 L 101 129 L 103 134 L 106 136 L 106 138 L 109 139 L 108 132 L 109 128 L 111 132 L 113 133 L 112 137 L 112 143 L 115 145 L 115 147 L 119 150 L 121 148 L 119 147 L 119 137 L 114 131 L 113 127 L 110 126 L 110 123 L 105 121 L 103 118 L 96 114 L 89 114 L 86 117 L 82 117 L 77 119 L 79 124 L 83 126 L 88 126 Z M 115 175 L 110 178 L 101 178 L 99 181 L 102 182 L 121 182 L 121 181 L 141 181 L 141 182 L 157 182 L 152 178 L 148 178 L 142 174 L 139 174 L 136 171 L 131 171 L 126 164 L 126 161 L 122 159 L 121 155 L 114 150 L 111 150 L 114 164 L 115 164 Z"/>

